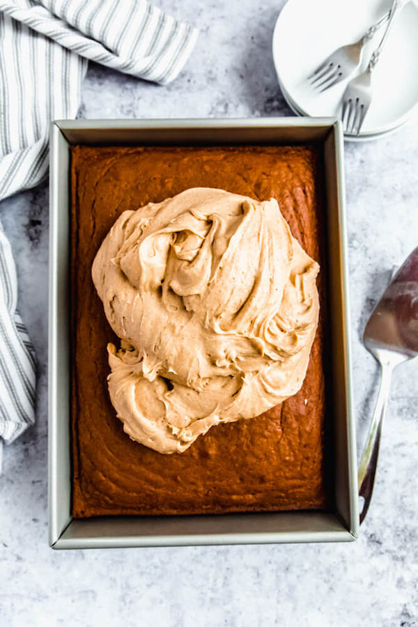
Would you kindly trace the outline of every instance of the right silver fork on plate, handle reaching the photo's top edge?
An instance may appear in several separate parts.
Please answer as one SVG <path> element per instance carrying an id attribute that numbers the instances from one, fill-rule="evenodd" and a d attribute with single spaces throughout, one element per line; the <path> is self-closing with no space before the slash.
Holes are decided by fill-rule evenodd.
<path id="1" fill-rule="evenodd" d="M 358 135 L 362 128 L 364 118 L 371 104 L 371 74 L 374 68 L 376 68 L 382 48 L 401 6 L 402 0 L 394 0 L 389 12 L 385 33 L 383 33 L 380 44 L 371 55 L 369 65 L 367 65 L 364 72 L 350 80 L 346 86 L 341 105 L 341 121 L 346 134 Z"/>

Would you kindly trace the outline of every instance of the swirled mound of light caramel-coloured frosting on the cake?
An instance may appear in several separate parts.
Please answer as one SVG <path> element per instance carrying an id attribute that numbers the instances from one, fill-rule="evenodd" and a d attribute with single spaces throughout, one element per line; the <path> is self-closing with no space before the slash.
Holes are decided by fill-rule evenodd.
<path id="1" fill-rule="evenodd" d="M 130 438 L 181 453 L 295 394 L 318 324 L 318 264 L 277 201 L 196 187 L 125 211 L 93 262 L 121 348 L 111 402 Z"/>

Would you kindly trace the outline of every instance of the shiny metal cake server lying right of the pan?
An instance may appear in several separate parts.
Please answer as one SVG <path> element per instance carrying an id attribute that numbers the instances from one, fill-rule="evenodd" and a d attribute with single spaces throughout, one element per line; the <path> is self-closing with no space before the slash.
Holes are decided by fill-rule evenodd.
<path id="1" fill-rule="evenodd" d="M 364 346 L 382 367 L 378 401 L 359 466 L 363 522 L 373 492 L 380 433 L 394 367 L 418 355 L 418 247 L 401 265 L 366 324 Z"/>

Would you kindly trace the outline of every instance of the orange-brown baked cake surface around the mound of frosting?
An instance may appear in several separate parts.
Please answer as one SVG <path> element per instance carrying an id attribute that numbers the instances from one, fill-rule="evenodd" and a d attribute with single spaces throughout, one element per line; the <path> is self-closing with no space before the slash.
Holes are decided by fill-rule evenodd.
<path id="1" fill-rule="evenodd" d="M 323 312 L 302 389 L 261 417 L 212 428 L 183 454 L 123 433 L 109 401 L 115 341 L 91 264 L 118 215 L 189 187 L 274 197 L 295 238 L 323 265 L 320 153 L 313 146 L 72 148 L 73 515 L 322 509 Z M 321 272 L 325 274 L 325 272 Z M 323 279 L 318 288 L 323 297 Z"/>

